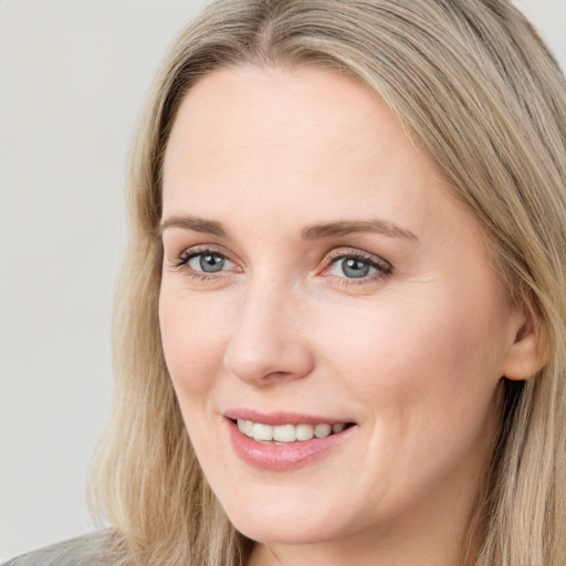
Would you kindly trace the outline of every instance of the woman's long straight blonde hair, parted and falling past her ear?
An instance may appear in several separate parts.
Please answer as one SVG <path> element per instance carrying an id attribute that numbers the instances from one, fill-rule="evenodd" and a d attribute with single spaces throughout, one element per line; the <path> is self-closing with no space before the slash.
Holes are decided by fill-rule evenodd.
<path id="1" fill-rule="evenodd" d="M 548 360 L 505 388 L 501 434 L 468 556 L 566 563 L 566 84 L 507 0 L 220 0 L 178 39 L 140 123 L 115 311 L 116 397 L 92 475 L 116 564 L 243 565 L 190 446 L 164 361 L 161 164 L 184 94 L 214 69 L 324 65 L 357 77 L 427 148 L 475 213 Z"/>

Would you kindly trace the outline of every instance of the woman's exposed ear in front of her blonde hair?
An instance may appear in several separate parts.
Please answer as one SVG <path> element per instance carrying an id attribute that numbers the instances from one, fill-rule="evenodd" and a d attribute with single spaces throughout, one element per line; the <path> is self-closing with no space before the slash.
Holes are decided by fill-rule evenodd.
<path id="1" fill-rule="evenodd" d="M 515 339 L 505 356 L 503 375 L 512 380 L 528 379 L 543 368 L 548 358 L 541 321 L 527 306 L 517 308 L 512 318 Z"/>

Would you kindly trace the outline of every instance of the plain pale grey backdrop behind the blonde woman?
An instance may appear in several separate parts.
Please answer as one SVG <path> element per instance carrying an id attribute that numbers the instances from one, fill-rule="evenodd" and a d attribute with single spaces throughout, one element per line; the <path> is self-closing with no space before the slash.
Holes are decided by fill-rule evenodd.
<path id="1" fill-rule="evenodd" d="M 0 560 L 93 530 L 136 119 L 205 0 L 0 0 Z M 566 0 L 517 0 L 566 67 Z"/>

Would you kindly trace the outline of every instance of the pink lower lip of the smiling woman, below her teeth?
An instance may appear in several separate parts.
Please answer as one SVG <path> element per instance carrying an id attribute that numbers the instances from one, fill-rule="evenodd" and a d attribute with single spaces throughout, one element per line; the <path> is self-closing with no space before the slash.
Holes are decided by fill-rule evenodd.
<path id="1" fill-rule="evenodd" d="M 337 434 L 325 438 L 313 438 L 285 444 L 256 442 L 240 431 L 238 426 L 227 420 L 230 440 L 234 452 L 245 463 L 261 470 L 286 472 L 310 464 L 347 440 L 354 429 L 350 427 Z"/>

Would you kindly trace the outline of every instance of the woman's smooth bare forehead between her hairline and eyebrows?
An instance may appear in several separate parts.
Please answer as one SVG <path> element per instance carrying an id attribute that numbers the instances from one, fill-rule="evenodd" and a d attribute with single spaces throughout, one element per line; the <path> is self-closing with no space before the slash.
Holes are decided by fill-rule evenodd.
<path id="1" fill-rule="evenodd" d="M 256 221 L 261 208 L 271 219 L 290 210 L 298 224 L 371 211 L 419 228 L 453 201 L 447 195 L 385 103 L 324 69 L 247 65 L 201 78 L 179 107 L 164 164 L 164 217 L 238 210 L 231 220 Z"/>

